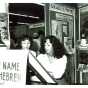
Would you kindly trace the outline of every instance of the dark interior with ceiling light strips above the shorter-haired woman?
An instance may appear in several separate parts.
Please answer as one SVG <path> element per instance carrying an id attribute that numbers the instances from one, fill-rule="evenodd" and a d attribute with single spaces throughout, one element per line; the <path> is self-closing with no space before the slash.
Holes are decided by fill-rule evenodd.
<path id="1" fill-rule="evenodd" d="M 44 6 L 39 4 L 10 3 L 9 4 L 9 31 L 11 48 L 15 48 L 22 35 L 38 36 L 38 31 L 45 33 Z M 37 34 L 34 34 L 37 33 Z"/>

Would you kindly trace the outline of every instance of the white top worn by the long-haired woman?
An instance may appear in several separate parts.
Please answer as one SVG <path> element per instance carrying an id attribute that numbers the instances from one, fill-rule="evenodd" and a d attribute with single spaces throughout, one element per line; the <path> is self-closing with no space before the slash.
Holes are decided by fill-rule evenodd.
<path id="1" fill-rule="evenodd" d="M 53 78 L 59 79 L 64 74 L 67 64 L 66 55 L 59 59 L 53 57 L 50 61 L 47 54 L 40 54 L 37 59 Z"/>

